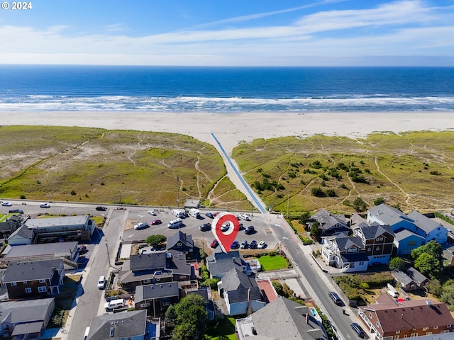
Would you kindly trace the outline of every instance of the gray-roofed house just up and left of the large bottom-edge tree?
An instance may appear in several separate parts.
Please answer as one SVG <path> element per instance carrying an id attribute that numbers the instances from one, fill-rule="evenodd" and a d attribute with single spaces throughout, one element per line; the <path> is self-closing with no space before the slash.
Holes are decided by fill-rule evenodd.
<path id="1" fill-rule="evenodd" d="M 153 317 L 164 314 L 170 305 L 179 302 L 177 282 L 138 285 L 135 288 L 135 309 L 153 311 Z"/>

